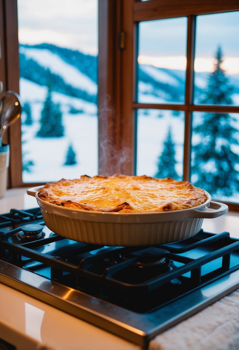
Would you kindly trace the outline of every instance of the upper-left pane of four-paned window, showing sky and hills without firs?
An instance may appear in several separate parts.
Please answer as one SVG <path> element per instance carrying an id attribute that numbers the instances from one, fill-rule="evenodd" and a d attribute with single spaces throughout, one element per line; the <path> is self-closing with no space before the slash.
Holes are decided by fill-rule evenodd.
<path id="1" fill-rule="evenodd" d="M 139 23 L 137 101 L 184 103 L 186 18 Z"/>

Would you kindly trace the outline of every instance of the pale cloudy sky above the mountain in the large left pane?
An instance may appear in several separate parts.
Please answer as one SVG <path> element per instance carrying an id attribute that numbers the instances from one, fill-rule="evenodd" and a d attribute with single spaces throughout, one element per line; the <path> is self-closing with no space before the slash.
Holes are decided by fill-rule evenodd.
<path id="1" fill-rule="evenodd" d="M 97 16 L 97 0 L 21 0 L 19 42 L 49 42 L 97 54 Z"/>

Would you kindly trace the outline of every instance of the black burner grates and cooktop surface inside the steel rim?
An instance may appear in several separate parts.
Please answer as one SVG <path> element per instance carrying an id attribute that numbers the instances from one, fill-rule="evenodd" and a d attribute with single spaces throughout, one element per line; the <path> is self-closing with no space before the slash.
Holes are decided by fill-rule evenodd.
<path id="1" fill-rule="evenodd" d="M 228 232 L 201 230 L 184 241 L 154 247 L 103 247 L 53 233 L 16 244 L 14 237 L 26 222 L 37 222 L 44 232 L 39 209 L 12 210 L 4 218 L 10 223 L 3 227 L 12 229 L 1 232 L 0 259 L 138 313 L 162 307 L 239 264 L 239 240 Z"/>

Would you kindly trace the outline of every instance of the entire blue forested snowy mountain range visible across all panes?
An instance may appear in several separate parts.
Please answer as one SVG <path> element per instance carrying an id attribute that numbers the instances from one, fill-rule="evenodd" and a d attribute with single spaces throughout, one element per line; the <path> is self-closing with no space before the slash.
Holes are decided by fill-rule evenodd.
<path id="1" fill-rule="evenodd" d="M 20 45 L 20 76 L 39 85 L 52 81 L 54 91 L 97 102 L 97 57 L 52 44 Z M 195 99 L 202 94 L 208 73 L 195 74 Z M 239 97 L 239 75 L 228 77 Z M 138 102 L 184 103 L 185 71 L 139 64 Z"/>

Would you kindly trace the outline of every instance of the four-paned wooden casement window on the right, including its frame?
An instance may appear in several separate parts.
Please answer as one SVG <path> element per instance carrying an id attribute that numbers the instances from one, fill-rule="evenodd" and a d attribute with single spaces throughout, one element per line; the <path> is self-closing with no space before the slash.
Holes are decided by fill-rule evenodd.
<path id="1" fill-rule="evenodd" d="M 122 53 L 122 119 L 132 121 L 125 120 L 122 134 L 134 152 L 128 169 L 173 174 L 236 208 L 239 6 L 124 3 L 131 10 L 124 13 Z"/>

